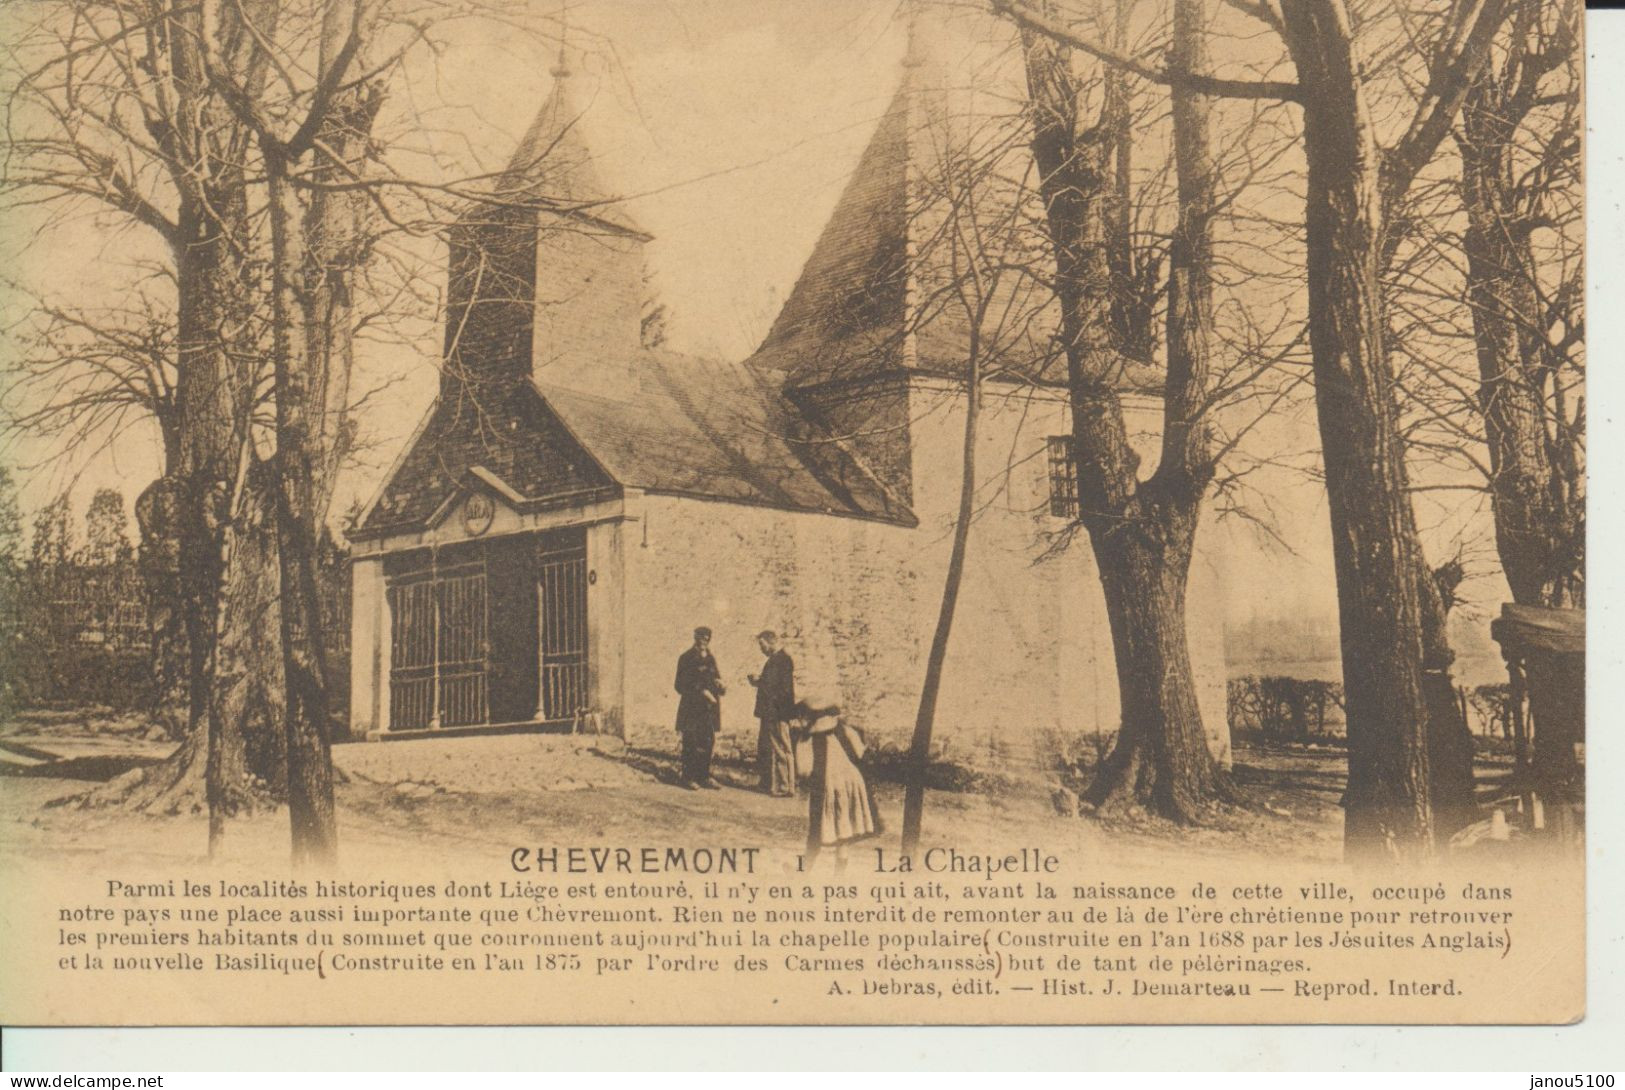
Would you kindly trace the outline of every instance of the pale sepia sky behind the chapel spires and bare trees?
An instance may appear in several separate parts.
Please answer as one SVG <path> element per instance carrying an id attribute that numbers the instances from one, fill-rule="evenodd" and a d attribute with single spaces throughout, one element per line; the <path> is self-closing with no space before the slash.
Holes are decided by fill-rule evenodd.
<path id="1" fill-rule="evenodd" d="M 396 128 L 413 119 L 413 146 L 432 153 L 434 169 L 447 177 L 500 167 L 552 86 L 559 10 L 548 0 L 528 10 L 518 28 L 489 19 L 440 28 L 445 47 L 432 63 L 413 62 L 406 89 L 385 107 Z M 648 260 L 668 307 L 671 346 L 699 356 L 749 354 L 897 86 L 905 50 L 897 3 L 570 0 L 564 26 L 580 128 L 598 172 L 609 190 L 627 195 L 629 214 L 653 236 Z M 0 257 L 13 275 L 65 297 L 117 296 L 119 263 L 151 245 L 106 218 L 80 216 L 46 232 L 26 219 L 10 227 Z M 422 253 L 439 260 L 437 252 Z M 370 497 L 432 401 L 439 315 L 421 310 L 416 343 L 361 351 L 358 388 L 384 388 L 369 401 L 370 443 L 346 471 L 335 510 Z M 1311 414 L 1305 406 L 1282 411 L 1259 439 L 1310 448 Z M 54 458 L 47 455 L 57 452 L 28 442 L 10 453 L 21 468 L 24 510 L 72 482 L 83 512 L 99 486 L 133 499 L 156 476 L 159 450 L 150 429 L 133 429 L 91 456 Z M 1331 624 L 1324 497 L 1290 474 L 1269 473 L 1261 482 L 1276 497 L 1285 541 L 1261 539 L 1242 521 L 1211 531 L 1228 586 L 1227 619 L 1242 625 L 1311 616 Z M 1459 512 L 1436 512 L 1430 521 L 1445 551 L 1453 538 L 1482 528 L 1480 518 Z M 1271 578 L 1258 580 L 1264 569 Z M 1492 603 L 1497 593 L 1482 596 Z"/>

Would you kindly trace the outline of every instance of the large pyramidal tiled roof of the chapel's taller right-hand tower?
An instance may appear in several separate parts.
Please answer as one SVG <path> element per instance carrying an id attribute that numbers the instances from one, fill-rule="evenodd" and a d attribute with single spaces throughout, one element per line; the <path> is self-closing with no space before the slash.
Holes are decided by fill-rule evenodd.
<path id="1" fill-rule="evenodd" d="M 1064 382 L 1053 296 L 1019 271 L 1051 260 L 1030 153 L 999 107 L 996 96 L 946 88 L 930 68 L 905 71 L 754 367 L 791 387 L 887 370 L 962 375 L 967 302 L 977 302 L 960 291 L 962 270 L 967 245 L 978 245 L 983 275 L 1003 265 L 982 281 L 983 374 Z M 1128 361 L 1115 378 L 1160 385 L 1160 374 Z"/>

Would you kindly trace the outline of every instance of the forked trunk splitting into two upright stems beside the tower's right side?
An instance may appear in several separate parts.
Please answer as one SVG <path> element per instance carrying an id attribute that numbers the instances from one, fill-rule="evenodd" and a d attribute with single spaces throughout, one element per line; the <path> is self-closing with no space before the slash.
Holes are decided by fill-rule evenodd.
<path id="1" fill-rule="evenodd" d="M 1237 798 L 1207 749 L 1185 627 L 1186 578 L 1201 500 L 1212 479 L 1202 421 L 1212 333 L 1209 107 L 1188 91 L 1173 96 L 1180 226 L 1170 250 L 1164 442 L 1157 473 L 1141 482 L 1123 403 L 1112 385 L 1123 346 L 1107 336 L 1113 328 L 1108 179 L 1115 177 L 1110 161 L 1113 151 L 1121 154 L 1123 133 L 1110 125 L 1081 132 L 1068 49 L 1024 31 L 1022 52 L 1034 159 L 1058 273 L 1079 520 L 1105 590 L 1123 708 L 1116 744 L 1087 798 L 1107 812 L 1142 807 L 1193 822 L 1207 804 Z M 1186 71 L 1206 67 L 1199 0 L 1175 5 L 1170 65 Z M 1121 125 L 1128 110 L 1113 106 Z M 1116 200 L 1121 206 L 1126 195 Z"/>

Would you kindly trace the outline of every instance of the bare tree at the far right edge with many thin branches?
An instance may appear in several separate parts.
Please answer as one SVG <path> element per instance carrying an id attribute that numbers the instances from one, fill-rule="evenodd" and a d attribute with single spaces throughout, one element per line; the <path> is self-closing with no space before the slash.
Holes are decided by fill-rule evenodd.
<path id="1" fill-rule="evenodd" d="M 1518 8 L 1456 133 L 1497 554 L 1513 601 L 1555 608 L 1586 601 L 1578 21 L 1575 3 Z M 1568 725 L 1583 716 L 1555 705 L 1584 681 L 1532 656 L 1528 684 L 1542 726 L 1534 775 L 1568 788 L 1580 778 Z"/>

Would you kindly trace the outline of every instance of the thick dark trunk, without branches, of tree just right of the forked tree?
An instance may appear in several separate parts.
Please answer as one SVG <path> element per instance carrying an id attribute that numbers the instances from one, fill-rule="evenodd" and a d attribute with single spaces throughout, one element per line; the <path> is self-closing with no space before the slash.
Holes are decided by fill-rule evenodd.
<path id="1" fill-rule="evenodd" d="M 1285 0 L 1303 88 L 1310 351 L 1342 638 L 1350 858 L 1432 851 L 1422 552 L 1383 338 L 1380 159 L 1349 13 Z"/>

